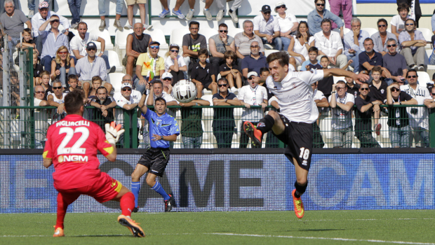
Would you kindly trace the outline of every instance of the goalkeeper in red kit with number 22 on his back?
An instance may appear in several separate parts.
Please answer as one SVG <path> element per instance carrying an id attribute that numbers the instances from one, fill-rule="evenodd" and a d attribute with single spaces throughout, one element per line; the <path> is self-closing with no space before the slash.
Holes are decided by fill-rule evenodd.
<path id="1" fill-rule="evenodd" d="M 97 150 L 107 160 L 116 160 L 116 141 L 124 130 L 114 123 L 105 125 L 106 135 L 100 126 L 83 116 L 86 99 L 83 90 L 74 90 L 65 96 L 67 116 L 48 128 L 44 148 L 44 167 L 54 165 L 53 184 L 58 190 L 58 216 L 53 237 L 64 236 L 64 218 L 69 204 L 80 195 L 89 195 L 98 202 L 118 201 L 122 214 L 118 222 L 135 237 L 145 237 L 142 228 L 133 221 L 134 195 L 119 181 L 100 172 Z"/>

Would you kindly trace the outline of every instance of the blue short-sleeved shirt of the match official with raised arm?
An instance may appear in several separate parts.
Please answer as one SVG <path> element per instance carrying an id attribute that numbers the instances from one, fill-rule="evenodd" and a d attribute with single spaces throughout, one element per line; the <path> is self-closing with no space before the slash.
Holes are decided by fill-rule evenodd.
<path id="1" fill-rule="evenodd" d="M 147 113 L 142 113 L 142 116 L 144 116 L 149 122 L 149 139 L 152 148 L 169 148 L 169 141 L 152 141 L 153 134 L 161 136 L 180 134 L 177 120 L 172 116 L 169 116 L 168 113 L 164 113 L 162 116 L 157 116 L 157 113 L 148 109 Z"/>

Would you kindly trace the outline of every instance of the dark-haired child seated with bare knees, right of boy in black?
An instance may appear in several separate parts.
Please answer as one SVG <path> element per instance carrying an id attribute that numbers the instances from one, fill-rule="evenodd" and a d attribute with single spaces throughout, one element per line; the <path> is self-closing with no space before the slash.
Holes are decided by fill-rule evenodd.
<path id="1" fill-rule="evenodd" d="M 225 64 L 220 66 L 219 73 L 222 78 L 227 78 L 231 92 L 236 94 L 238 89 L 241 88 L 239 67 L 234 64 L 234 61 L 237 59 L 236 53 L 232 50 L 228 50 L 225 52 L 224 58 Z M 235 85 L 237 85 L 237 88 L 234 87 L 234 82 L 236 82 Z"/>

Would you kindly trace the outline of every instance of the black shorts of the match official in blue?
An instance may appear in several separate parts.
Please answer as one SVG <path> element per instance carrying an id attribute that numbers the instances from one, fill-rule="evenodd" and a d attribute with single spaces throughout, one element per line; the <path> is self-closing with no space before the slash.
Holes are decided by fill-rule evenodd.
<path id="1" fill-rule="evenodd" d="M 148 172 L 156 176 L 163 176 L 169 162 L 169 148 L 148 148 L 139 159 L 138 164 L 148 168 Z"/>

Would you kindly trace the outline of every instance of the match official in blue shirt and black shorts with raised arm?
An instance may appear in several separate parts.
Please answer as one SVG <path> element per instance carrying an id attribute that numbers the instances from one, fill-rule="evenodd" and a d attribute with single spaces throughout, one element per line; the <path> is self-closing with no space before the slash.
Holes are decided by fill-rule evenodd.
<path id="1" fill-rule="evenodd" d="M 142 102 L 142 100 L 144 100 Z M 141 102 L 144 104 L 145 96 L 142 97 Z M 154 106 L 154 111 L 148 110 L 144 104 L 140 108 L 142 116 L 149 122 L 149 138 L 151 139 L 151 148 L 142 155 L 136 165 L 135 171 L 131 174 L 131 191 L 135 195 L 135 209 L 133 212 L 138 211 L 138 196 L 140 190 L 140 177 L 148 172 L 147 184 L 156 193 L 163 197 L 165 202 L 165 212 L 169 212 L 173 206 L 173 197 L 168 195 L 160 183 L 156 181 L 156 177 L 163 176 L 166 165 L 169 162 L 169 141 L 176 141 L 180 134 L 177 120 L 166 113 L 166 101 L 163 98 L 157 98 Z"/>

